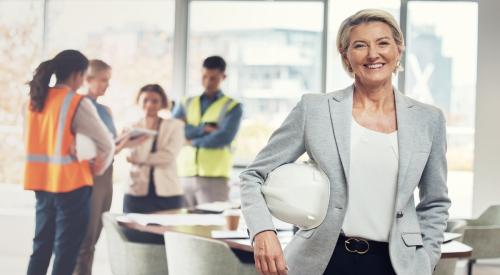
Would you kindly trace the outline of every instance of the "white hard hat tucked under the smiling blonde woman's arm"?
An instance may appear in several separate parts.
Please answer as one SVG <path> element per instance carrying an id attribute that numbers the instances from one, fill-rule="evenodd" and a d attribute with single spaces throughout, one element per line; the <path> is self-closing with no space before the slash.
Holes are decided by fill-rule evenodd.
<path id="1" fill-rule="evenodd" d="M 312 161 L 289 163 L 269 173 L 262 194 L 274 217 L 307 230 L 326 217 L 330 182 Z"/>

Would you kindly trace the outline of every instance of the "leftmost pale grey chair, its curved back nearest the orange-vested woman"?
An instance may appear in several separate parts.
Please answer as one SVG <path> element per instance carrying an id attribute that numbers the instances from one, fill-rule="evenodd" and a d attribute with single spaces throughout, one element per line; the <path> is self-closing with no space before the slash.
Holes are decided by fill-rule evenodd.
<path id="1" fill-rule="evenodd" d="M 116 222 L 117 216 L 109 212 L 102 215 L 111 272 L 114 275 L 168 274 L 165 247 L 130 242 Z"/>

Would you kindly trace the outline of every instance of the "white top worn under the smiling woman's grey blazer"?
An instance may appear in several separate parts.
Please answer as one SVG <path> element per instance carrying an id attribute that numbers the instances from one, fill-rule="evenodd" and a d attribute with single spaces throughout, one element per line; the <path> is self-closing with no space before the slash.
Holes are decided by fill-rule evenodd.
<path id="1" fill-rule="evenodd" d="M 346 236 L 387 242 L 394 219 L 398 176 L 397 131 L 385 134 L 351 122 Z"/>

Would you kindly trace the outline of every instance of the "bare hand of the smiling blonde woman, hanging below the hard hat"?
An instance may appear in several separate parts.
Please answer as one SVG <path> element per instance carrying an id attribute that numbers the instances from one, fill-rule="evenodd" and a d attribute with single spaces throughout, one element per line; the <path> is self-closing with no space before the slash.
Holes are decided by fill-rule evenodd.
<path id="1" fill-rule="evenodd" d="M 274 231 L 263 231 L 255 235 L 255 267 L 262 275 L 286 275 L 288 267 L 278 236 Z"/>

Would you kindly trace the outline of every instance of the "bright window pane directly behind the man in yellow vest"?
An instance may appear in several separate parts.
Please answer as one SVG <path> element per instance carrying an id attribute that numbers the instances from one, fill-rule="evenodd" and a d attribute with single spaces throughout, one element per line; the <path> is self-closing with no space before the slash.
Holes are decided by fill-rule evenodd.
<path id="1" fill-rule="evenodd" d="M 193 1 L 187 87 L 203 92 L 201 65 L 227 63 L 223 91 L 244 104 L 236 162 L 248 163 L 303 93 L 321 92 L 323 3 Z"/>

